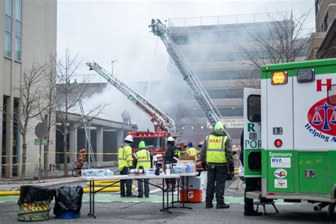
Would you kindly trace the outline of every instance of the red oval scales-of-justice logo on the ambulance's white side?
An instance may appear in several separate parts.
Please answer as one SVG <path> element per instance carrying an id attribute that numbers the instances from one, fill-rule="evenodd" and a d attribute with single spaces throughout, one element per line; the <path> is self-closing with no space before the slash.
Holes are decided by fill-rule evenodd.
<path id="1" fill-rule="evenodd" d="M 309 109 L 308 121 L 321 133 L 336 136 L 336 106 L 332 106 L 327 98 L 316 102 Z"/>

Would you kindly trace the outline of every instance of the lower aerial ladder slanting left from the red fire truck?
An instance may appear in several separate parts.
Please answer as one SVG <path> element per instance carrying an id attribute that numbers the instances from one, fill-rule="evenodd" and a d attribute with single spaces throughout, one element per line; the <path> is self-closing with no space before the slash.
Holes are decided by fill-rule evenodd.
<path id="1" fill-rule="evenodd" d="M 116 87 L 119 91 L 121 91 L 127 98 L 138 106 L 143 112 L 145 112 L 148 116 L 150 116 L 152 123 L 154 123 L 155 131 L 169 131 L 170 133 L 174 133 L 176 131 L 174 120 L 169 117 L 166 113 L 161 111 L 157 106 L 150 101 L 147 101 L 145 97 L 138 94 L 133 89 L 130 89 L 129 86 L 121 82 L 120 79 L 113 76 L 113 74 L 108 73 L 105 69 L 103 69 L 96 62 L 87 62 L 87 66 L 90 67 L 90 70 L 94 70 L 101 77 L 106 79 L 107 82 Z"/>

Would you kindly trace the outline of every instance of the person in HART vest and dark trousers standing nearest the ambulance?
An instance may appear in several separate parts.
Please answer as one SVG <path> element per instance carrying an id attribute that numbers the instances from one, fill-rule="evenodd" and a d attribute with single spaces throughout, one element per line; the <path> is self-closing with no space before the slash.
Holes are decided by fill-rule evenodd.
<path id="1" fill-rule="evenodd" d="M 203 169 L 208 170 L 206 208 L 213 208 L 214 193 L 217 201 L 216 208 L 230 208 L 230 205 L 224 203 L 224 191 L 228 163 L 233 164 L 233 152 L 231 140 L 220 121 L 215 124 L 211 135 L 206 136 L 204 140 L 201 161 Z"/>

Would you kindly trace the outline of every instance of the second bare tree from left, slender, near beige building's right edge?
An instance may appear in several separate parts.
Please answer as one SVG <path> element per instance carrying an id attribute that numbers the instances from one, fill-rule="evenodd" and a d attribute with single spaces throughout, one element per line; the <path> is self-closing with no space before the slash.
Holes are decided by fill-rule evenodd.
<path id="1" fill-rule="evenodd" d="M 44 152 L 44 176 L 47 177 L 49 166 L 50 132 L 56 123 L 56 86 L 57 86 L 57 56 L 50 53 L 49 62 L 45 65 L 43 83 L 43 103 L 40 103 L 40 120 L 47 125 L 47 145 Z"/>

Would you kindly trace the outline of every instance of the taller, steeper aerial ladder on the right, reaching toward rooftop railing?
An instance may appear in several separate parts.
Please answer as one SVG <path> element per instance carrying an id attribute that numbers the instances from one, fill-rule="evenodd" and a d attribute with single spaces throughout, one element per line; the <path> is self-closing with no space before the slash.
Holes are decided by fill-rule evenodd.
<path id="1" fill-rule="evenodd" d="M 199 81 L 194 70 L 191 68 L 189 63 L 186 62 L 179 48 L 174 43 L 174 40 L 169 35 L 169 29 L 161 21 L 159 21 L 159 19 L 157 19 L 156 22 L 154 19 L 152 19 L 152 23 L 150 24 L 149 28 L 151 28 L 152 33 L 159 36 L 159 38 L 164 43 L 164 46 L 167 48 L 167 52 L 169 53 L 170 57 L 172 57 L 175 65 L 177 65 L 177 68 L 184 78 L 184 81 L 186 81 L 199 106 L 201 106 L 203 112 L 206 114 L 206 118 L 208 118 L 208 121 L 214 127 L 215 123 L 220 121 L 222 116 L 220 115 L 218 108 L 215 106 L 215 103 L 213 103 L 212 99 Z M 230 136 L 226 128 L 225 133 Z"/>

